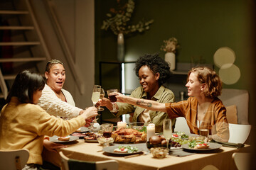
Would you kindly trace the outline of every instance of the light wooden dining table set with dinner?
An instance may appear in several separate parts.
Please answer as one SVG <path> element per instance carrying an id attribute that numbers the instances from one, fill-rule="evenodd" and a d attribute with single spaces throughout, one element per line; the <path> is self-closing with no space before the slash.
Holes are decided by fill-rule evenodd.
<path id="1" fill-rule="evenodd" d="M 64 144 L 64 143 L 63 143 Z M 245 145 L 242 148 L 236 147 L 220 147 L 209 151 L 194 152 L 186 149 L 171 149 L 169 154 L 164 159 L 157 159 L 152 156 L 146 143 L 131 144 L 138 146 L 142 152 L 136 154 L 136 157 L 126 157 L 122 154 L 112 154 L 104 152 L 102 146 L 97 142 L 86 142 L 79 139 L 73 142 L 65 143 L 67 147 L 58 149 L 65 156 L 72 159 L 83 161 L 97 162 L 109 159 L 114 159 L 119 162 L 119 169 L 186 169 L 198 170 L 205 166 L 215 166 L 217 169 L 237 169 L 232 158 L 234 152 L 249 152 L 250 145 Z M 115 144 L 114 146 L 122 144 Z M 58 152 L 50 152 L 47 149 L 43 150 L 43 159 L 47 162 L 61 166 L 61 159 Z"/>

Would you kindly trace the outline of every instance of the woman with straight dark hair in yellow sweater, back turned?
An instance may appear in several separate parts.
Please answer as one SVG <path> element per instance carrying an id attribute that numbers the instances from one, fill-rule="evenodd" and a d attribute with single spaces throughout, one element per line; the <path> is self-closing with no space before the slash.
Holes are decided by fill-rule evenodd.
<path id="1" fill-rule="evenodd" d="M 36 105 L 44 87 L 43 77 L 29 71 L 20 72 L 7 97 L 0 116 L 0 149 L 28 149 L 26 169 L 37 169 L 42 162 L 45 135 L 65 136 L 85 125 L 85 119 L 97 115 L 97 108 L 88 108 L 77 118 L 63 120 L 49 115 Z"/>

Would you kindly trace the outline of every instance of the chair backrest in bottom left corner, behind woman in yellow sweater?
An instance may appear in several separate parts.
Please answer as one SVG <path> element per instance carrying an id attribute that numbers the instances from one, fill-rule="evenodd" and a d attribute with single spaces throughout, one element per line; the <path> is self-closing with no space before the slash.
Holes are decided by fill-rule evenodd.
<path id="1" fill-rule="evenodd" d="M 28 149 L 0 150 L 0 169 L 21 170 L 28 162 Z"/>

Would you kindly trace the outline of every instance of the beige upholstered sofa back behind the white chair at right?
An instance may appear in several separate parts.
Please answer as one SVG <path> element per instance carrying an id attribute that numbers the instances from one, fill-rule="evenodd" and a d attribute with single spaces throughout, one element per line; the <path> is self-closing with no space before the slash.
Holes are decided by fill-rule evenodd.
<path id="1" fill-rule="evenodd" d="M 233 105 L 237 106 L 238 124 L 249 124 L 249 93 L 247 90 L 223 89 L 222 94 L 218 98 L 220 98 L 225 107 Z"/>

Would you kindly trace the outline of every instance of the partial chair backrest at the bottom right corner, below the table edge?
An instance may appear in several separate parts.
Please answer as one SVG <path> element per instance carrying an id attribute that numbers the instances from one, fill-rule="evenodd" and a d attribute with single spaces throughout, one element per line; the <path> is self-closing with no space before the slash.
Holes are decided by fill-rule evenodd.
<path id="1" fill-rule="evenodd" d="M 235 152 L 232 157 L 238 170 L 250 169 L 250 153 Z"/>

